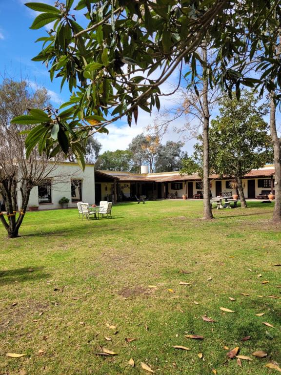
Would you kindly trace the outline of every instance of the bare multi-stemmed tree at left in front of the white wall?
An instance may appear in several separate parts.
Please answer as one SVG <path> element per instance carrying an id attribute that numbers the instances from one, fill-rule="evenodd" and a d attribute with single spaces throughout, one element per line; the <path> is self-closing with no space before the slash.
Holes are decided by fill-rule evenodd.
<path id="1" fill-rule="evenodd" d="M 46 89 L 30 92 L 26 81 L 4 79 L 0 85 L 0 194 L 6 207 L 6 214 L 0 211 L 0 221 L 11 238 L 19 234 L 31 189 L 42 184 L 56 168 L 56 160 L 50 164 L 44 152 L 39 154 L 38 147 L 26 158 L 26 131 L 31 127 L 11 124 L 11 120 L 26 114 L 28 108 L 43 109 L 48 100 Z"/>

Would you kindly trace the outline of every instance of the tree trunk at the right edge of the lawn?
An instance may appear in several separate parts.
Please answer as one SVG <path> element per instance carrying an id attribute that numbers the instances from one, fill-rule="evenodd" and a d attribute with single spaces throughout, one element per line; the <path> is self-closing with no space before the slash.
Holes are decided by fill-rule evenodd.
<path id="1" fill-rule="evenodd" d="M 281 140 L 276 130 L 276 104 L 273 99 L 274 93 L 270 96 L 270 135 L 273 143 L 274 151 L 274 167 L 275 167 L 275 205 L 272 221 L 274 223 L 281 222 Z"/>

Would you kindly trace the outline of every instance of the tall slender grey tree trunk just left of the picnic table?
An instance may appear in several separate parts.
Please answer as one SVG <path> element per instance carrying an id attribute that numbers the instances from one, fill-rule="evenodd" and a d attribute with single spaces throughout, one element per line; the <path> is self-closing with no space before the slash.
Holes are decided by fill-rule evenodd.
<path id="1" fill-rule="evenodd" d="M 203 61 L 207 62 L 207 46 L 202 45 Z M 208 76 L 203 74 L 203 218 L 205 220 L 213 219 L 212 207 L 210 203 L 210 179 L 209 179 L 209 104 L 208 104 Z"/>

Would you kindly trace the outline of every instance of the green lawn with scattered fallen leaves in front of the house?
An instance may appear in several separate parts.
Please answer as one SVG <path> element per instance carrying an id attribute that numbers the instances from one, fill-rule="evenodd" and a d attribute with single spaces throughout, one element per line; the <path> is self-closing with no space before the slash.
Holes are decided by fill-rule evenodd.
<path id="1" fill-rule="evenodd" d="M 281 363 L 281 300 L 268 297 L 281 297 L 272 211 L 250 203 L 204 222 L 201 201 L 158 201 L 118 204 L 98 221 L 76 209 L 30 212 L 17 239 L 0 228 L 0 374 L 148 374 L 141 362 L 161 375 L 277 374 L 264 368 Z M 240 368 L 224 346 L 253 360 Z M 94 354 L 100 347 L 118 355 Z"/>

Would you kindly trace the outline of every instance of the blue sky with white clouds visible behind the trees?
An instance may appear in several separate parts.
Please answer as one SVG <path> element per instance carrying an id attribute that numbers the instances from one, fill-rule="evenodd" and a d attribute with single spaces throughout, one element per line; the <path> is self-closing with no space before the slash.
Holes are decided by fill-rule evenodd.
<path id="1" fill-rule="evenodd" d="M 31 30 L 29 27 L 36 17 L 36 12 L 24 5 L 27 0 L 0 0 L 0 82 L 3 77 L 12 77 L 14 80 L 26 79 L 31 89 L 36 86 L 44 86 L 48 90 L 51 103 L 54 107 L 68 101 L 70 92 L 67 85 L 60 92 L 60 80 L 54 79 L 53 83 L 49 78 L 49 73 L 45 65 L 41 62 L 32 62 L 31 59 L 36 56 L 41 49 L 41 43 L 35 41 L 47 35 L 46 28 Z M 42 0 L 54 4 L 53 0 Z M 74 2 L 74 5 L 77 1 Z M 79 21 L 79 20 L 78 20 Z M 170 83 L 176 83 L 179 72 L 176 71 L 171 77 Z M 164 93 L 169 92 L 171 86 L 165 83 L 161 90 Z M 162 97 L 161 109 L 175 107 L 176 95 Z M 157 115 L 157 110 L 152 114 L 140 110 L 138 124 L 134 123 L 128 126 L 126 118 L 108 126 L 109 134 L 97 134 L 97 139 L 102 144 L 101 152 L 106 150 L 125 149 L 131 140 L 138 134 L 145 132 L 148 125 L 153 125 Z M 178 119 L 170 126 L 170 130 L 164 135 L 162 142 L 168 140 L 185 140 L 183 150 L 189 154 L 192 153 L 195 139 L 185 132 L 183 135 L 173 131 L 174 127 L 181 128 L 186 122 L 185 118 Z M 190 139 L 191 138 L 191 139 Z"/>

